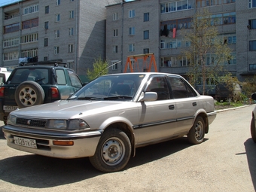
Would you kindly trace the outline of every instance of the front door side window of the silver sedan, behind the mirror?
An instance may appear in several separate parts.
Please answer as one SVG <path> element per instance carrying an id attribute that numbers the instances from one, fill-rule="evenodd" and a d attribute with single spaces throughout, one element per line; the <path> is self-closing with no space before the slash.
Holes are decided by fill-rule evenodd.
<path id="1" fill-rule="evenodd" d="M 147 87 L 147 92 L 156 92 L 157 100 L 170 99 L 169 89 L 164 77 L 154 77 L 151 79 L 151 83 Z"/>

